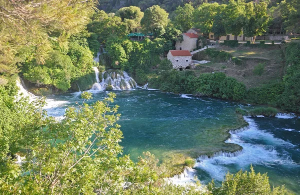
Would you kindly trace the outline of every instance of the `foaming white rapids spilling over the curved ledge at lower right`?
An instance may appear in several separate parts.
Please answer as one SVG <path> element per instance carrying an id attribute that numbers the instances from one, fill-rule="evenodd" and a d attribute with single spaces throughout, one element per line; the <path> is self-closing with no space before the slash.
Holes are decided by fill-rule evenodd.
<path id="1" fill-rule="evenodd" d="M 211 178 L 222 181 L 228 168 L 226 166 L 234 165 L 237 169 L 245 169 L 250 164 L 262 165 L 265 167 L 273 165 L 295 165 L 288 155 L 279 154 L 275 146 L 283 145 L 285 147 L 294 147 L 292 144 L 281 139 L 274 138 L 268 132 L 259 130 L 254 121 L 244 117 L 249 126 L 239 130 L 230 131 L 231 137 L 226 143 L 240 145 L 243 150 L 237 155 L 214 155 L 212 158 L 201 157 L 197 159 L 196 168 L 207 172 Z M 252 144 L 245 140 L 259 140 L 266 144 Z"/>

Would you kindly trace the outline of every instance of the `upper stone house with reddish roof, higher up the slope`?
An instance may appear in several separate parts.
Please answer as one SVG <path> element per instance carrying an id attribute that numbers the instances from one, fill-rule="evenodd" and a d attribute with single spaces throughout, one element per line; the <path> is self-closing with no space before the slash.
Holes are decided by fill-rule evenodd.
<path id="1" fill-rule="evenodd" d="M 198 35 L 195 33 L 182 33 L 183 40 L 177 40 L 176 50 L 192 51 L 197 47 Z"/>

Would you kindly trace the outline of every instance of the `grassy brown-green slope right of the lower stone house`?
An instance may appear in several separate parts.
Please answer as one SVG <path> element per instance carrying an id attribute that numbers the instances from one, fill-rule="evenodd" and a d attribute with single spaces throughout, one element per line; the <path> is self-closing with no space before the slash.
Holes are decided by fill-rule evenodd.
<path id="1" fill-rule="evenodd" d="M 230 61 L 216 63 L 214 59 L 206 56 L 205 59 L 197 60 L 210 60 L 211 62 L 197 65 L 193 70 L 195 75 L 205 72 L 224 72 L 227 76 L 234 77 L 238 81 L 243 82 L 247 88 L 279 82 L 282 78 L 284 61 L 278 45 L 266 48 L 243 46 L 231 48 L 222 46 L 215 49 L 228 52 L 232 56 L 240 58 L 242 64 L 234 65 Z M 260 76 L 253 71 L 259 63 L 263 64 Z"/>

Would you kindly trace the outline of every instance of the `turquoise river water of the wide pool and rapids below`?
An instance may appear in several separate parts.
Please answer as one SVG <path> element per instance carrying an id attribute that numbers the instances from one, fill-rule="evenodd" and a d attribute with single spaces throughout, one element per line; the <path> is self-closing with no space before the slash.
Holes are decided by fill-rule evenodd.
<path id="1" fill-rule="evenodd" d="M 93 93 L 89 103 L 102 100 L 106 93 Z M 130 154 L 132 160 L 144 151 L 163 161 L 176 153 L 212 154 L 234 151 L 241 146 L 242 151 L 235 155 L 201 156 L 192 174 L 203 184 L 211 179 L 220 183 L 228 171 L 249 170 L 252 164 L 256 172 L 268 173 L 271 185 L 284 184 L 291 194 L 300 194 L 299 118 L 292 115 L 245 117 L 249 126 L 228 135 L 224 128 L 240 124 L 235 108 L 250 109 L 251 105 L 155 90 L 114 93 L 121 114 L 117 122 L 124 137 L 121 145 L 124 154 Z M 48 115 L 61 117 L 65 108 L 76 101 L 81 101 L 78 93 L 49 96 L 45 109 Z"/>

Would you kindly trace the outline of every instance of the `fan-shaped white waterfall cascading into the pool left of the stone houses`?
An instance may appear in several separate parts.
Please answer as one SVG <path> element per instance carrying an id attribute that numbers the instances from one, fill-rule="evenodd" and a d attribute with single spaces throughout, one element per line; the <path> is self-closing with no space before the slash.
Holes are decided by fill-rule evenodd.
<path id="1" fill-rule="evenodd" d="M 93 67 L 95 71 L 96 83 L 91 87 L 92 90 L 102 91 L 107 89 L 112 90 L 125 90 L 133 89 L 137 87 L 136 82 L 128 76 L 125 71 L 120 70 L 107 70 L 102 72 L 101 82 L 99 80 L 99 70 L 97 67 Z"/>

